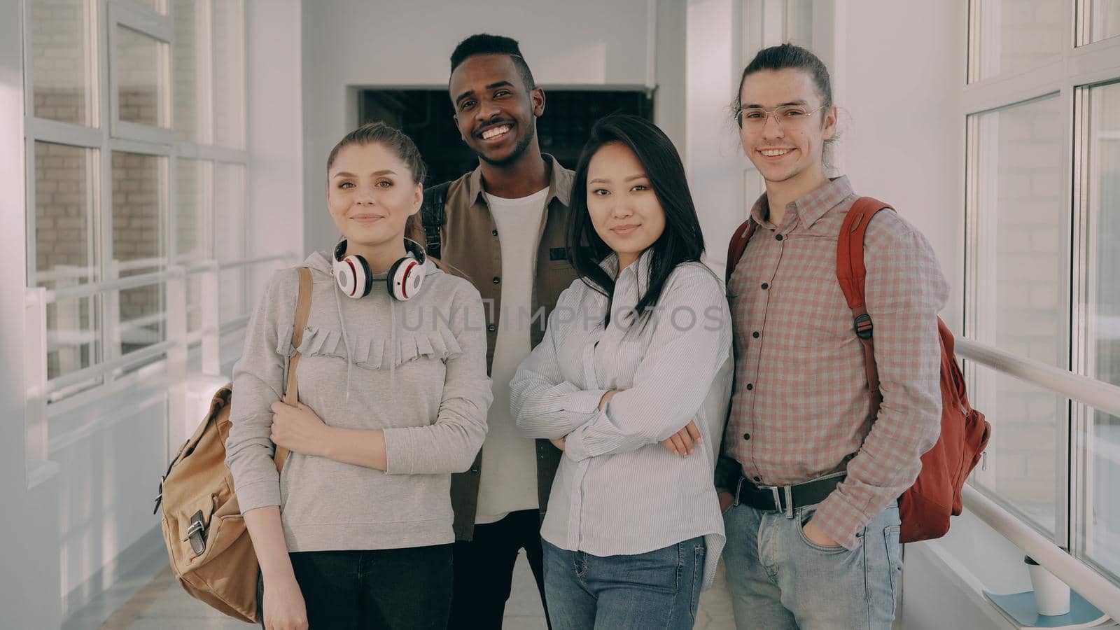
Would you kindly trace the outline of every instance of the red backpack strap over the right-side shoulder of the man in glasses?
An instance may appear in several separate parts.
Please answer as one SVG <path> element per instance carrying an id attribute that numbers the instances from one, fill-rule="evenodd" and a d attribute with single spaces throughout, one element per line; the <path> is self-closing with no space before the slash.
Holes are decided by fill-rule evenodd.
<path id="1" fill-rule="evenodd" d="M 864 346 L 864 368 L 867 371 L 867 390 L 871 397 L 871 409 L 877 411 L 883 401 L 879 392 L 879 369 L 875 363 L 875 324 L 867 314 L 864 296 L 864 285 L 867 280 L 867 268 L 864 266 L 864 237 L 871 217 L 881 210 L 895 209 L 874 197 L 860 197 L 844 216 L 837 240 L 837 279 L 840 289 L 851 308 L 856 337 Z"/>

